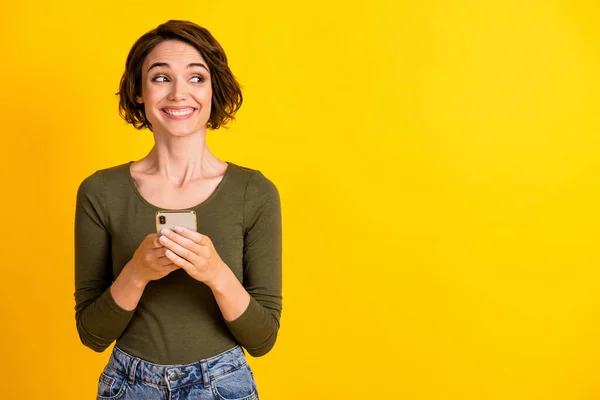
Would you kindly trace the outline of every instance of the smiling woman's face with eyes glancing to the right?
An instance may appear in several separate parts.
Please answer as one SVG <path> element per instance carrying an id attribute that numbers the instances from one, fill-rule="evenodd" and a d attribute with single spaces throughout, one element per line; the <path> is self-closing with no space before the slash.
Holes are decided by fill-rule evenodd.
<path id="1" fill-rule="evenodd" d="M 167 40 L 146 56 L 142 94 L 146 118 L 155 134 L 187 136 L 206 129 L 210 117 L 210 71 L 198 50 Z"/>

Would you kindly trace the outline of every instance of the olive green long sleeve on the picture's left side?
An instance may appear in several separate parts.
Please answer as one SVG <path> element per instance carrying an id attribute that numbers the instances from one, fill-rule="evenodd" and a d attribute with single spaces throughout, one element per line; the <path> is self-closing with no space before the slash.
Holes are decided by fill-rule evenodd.
<path id="1" fill-rule="evenodd" d="M 81 342 L 98 352 L 121 336 L 133 316 L 110 293 L 111 260 L 105 188 L 101 172 L 96 172 L 77 191 L 75 319 Z"/>

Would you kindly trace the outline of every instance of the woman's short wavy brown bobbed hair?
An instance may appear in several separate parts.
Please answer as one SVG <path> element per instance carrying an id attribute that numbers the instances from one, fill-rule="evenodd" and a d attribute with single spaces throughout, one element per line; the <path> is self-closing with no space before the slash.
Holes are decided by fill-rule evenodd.
<path id="1" fill-rule="evenodd" d="M 135 101 L 142 93 L 142 64 L 152 49 L 166 40 L 178 40 L 198 50 L 208 64 L 212 105 L 207 127 L 217 129 L 235 119 L 242 106 L 242 90 L 227 65 L 225 51 L 205 28 L 189 21 L 170 20 L 140 37 L 127 56 L 119 85 L 119 114 L 136 129 L 152 130 L 144 105 Z"/>

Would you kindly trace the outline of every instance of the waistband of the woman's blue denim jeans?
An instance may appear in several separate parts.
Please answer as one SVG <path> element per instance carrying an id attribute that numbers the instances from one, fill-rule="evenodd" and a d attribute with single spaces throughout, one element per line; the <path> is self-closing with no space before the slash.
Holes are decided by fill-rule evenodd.
<path id="1" fill-rule="evenodd" d="M 185 365 L 154 364 L 127 354 L 115 346 L 108 360 L 108 367 L 120 372 L 132 383 L 140 380 L 171 388 L 197 383 L 208 386 L 212 378 L 235 371 L 244 365 L 246 357 L 240 346 Z"/>

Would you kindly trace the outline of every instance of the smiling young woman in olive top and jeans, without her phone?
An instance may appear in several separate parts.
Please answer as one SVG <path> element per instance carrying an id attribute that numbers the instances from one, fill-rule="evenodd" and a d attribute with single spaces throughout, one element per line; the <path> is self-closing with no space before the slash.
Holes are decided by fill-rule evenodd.
<path id="1" fill-rule="evenodd" d="M 242 104 L 225 53 L 206 29 L 168 21 L 133 45 L 118 95 L 155 143 L 77 193 L 77 330 L 95 351 L 116 341 L 98 398 L 258 399 L 242 348 L 261 356 L 277 337 L 281 212 L 270 180 L 207 146 Z M 197 232 L 159 237 L 160 210 L 195 211 Z"/>

